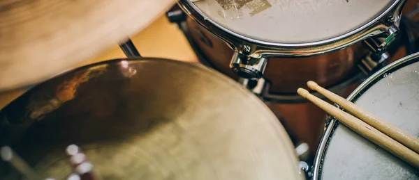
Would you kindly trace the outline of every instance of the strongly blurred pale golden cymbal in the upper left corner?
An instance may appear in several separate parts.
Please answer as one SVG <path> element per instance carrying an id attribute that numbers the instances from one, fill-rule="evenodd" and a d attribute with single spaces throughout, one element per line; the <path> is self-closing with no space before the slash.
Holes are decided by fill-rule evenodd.
<path id="1" fill-rule="evenodd" d="M 124 41 L 175 0 L 0 2 L 0 91 L 50 79 Z"/>

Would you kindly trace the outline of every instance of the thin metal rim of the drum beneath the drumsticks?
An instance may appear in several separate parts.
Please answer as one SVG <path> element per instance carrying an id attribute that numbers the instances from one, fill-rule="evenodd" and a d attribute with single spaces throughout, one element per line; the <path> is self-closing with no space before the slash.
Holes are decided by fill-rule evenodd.
<path id="1" fill-rule="evenodd" d="M 366 79 L 364 82 L 361 83 L 361 85 L 356 88 L 351 95 L 348 96 L 348 101 L 356 101 L 362 95 L 362 92 L 365 92 L 368 90 L 372 85 L 383 79 L 384 75 L 386 73 L 395 72 L 397 69 L 400 69 L 402 67 L 406 67 L 407 65 L 410 65 L 412 63 L 416 63 L 419 61 L 419 52 L 415 54 L 411 54 L 409 56 L 406 56 L 404 58 L 401 58 L 399 60 L 396 60 L 395 62 L 391 63 L 390 65 L 387 65 L 380 69 L 378 72 L 374 73 L 372 76 L 370 76 L 368 79 Z M 337 125 L 339 122 L 335 118 L 330 118 L 330 123 L 328 124 L 328 127 L 323 134 L 323 138 L 321 140 L 320 145 L 318 146 L 316 157 L 314 158 L 314 168 L 313 168 L 313 179 L 318 180 L 321 179 L 321 171 L 323 167 L 323 158 L 325 156 L 325 152 L 328 149 L 328 145 L 330 142 L 330 136 L 332 136 L 333 132 L 337 128 Z"/>

